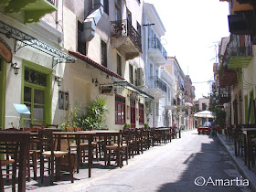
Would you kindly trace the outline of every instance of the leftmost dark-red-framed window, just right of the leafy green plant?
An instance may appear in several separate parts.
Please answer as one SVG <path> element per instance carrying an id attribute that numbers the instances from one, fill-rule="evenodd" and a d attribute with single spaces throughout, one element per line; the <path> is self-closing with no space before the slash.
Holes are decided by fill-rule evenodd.
<path id="1" fill-rule="evenodd" d="M 115 95 L 115 123 L 125 123 L 125 97 Z"/>

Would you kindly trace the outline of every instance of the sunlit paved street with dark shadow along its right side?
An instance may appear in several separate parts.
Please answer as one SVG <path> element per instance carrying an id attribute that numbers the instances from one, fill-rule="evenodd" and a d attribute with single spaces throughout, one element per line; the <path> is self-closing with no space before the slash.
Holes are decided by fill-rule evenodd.
<path id="1" fill-rule="evenodd" d="M 84 169 L 82 171 L 87 171 Z M 216 180 L 217 179 L 217 180 Z M 234 180 L 236 179 L 236 180 Z M 122 169 L 92 169 L 92 177 L 35 191 L 251 191 L 218 137 L 182 133 L 181 139 L 136 155 Z M 195 184 L 197 182 L 197 186 Z M 223 187 L 223 186 L 226 187 Z M 32 189 L 32 188 L 31 188 Z"/>

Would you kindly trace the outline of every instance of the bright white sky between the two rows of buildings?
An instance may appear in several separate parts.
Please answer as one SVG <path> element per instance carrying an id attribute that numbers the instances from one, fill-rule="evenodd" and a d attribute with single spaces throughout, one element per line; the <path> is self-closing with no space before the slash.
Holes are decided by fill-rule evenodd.
<path id="1" fill-rule="evenodd" d="M 229 4 L 219 0 L 144 2 L 155 5 L 166 30 L 161 37 L 162 44 L 168 57 L 176 56 L 184 74 L 190 76 L 196 88 L 196 99 L 208 96 L 216 46 L 221 37 L 229 37 Z"/>

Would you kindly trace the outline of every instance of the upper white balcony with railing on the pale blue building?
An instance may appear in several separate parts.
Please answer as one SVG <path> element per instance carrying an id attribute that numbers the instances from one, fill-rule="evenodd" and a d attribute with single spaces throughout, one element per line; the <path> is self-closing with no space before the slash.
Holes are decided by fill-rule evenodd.
<path id="1" fill-rule="evenodd" d="M 165 64 L 167 52 L 157 37 L 148 38 L 148 54 L 156 64 Z"/>

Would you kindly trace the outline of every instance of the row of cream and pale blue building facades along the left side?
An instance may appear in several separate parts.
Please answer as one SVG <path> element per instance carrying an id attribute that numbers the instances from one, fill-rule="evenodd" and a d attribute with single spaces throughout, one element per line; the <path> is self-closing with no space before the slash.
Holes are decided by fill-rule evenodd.
<path id="1" fill-rule="evenodd" d="M 0 127 L 72 126 L 97 98 L 109 129 L 186 124 L 185 75 L 176 59 L 165 65 L 164 36 L 155 6 L 139 0 L 2 1 Z"/>

